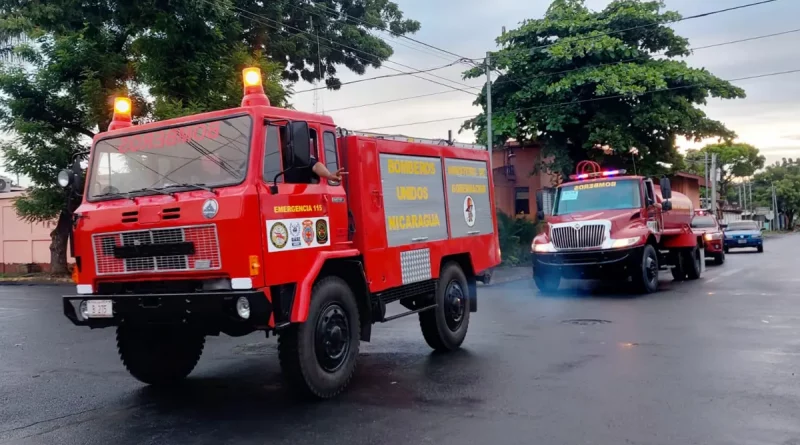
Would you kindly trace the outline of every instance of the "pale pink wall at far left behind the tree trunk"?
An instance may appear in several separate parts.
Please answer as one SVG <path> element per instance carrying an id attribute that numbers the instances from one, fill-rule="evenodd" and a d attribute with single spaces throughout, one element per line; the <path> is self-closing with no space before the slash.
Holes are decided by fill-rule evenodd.
<path id="1" fill-rule="evenodd" d="M 17 216 L 14 198 L 21 192 L 0 193 L 0 273 L 23 271 L 20 266 L 36 263 L 50 266 L 50 232 L 55 221 L 28 223 Z"/>

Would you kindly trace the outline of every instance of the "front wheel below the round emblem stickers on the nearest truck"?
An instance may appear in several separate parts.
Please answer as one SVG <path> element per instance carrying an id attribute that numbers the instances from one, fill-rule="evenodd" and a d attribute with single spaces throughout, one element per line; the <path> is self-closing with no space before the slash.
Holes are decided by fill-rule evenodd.
<path id="1" fill-rule="evenodd" d="M 361 332 L 358 304 L 339 277 L 314 285 L 305 323 L 278 337 L 281 372 L 289 388 L 305 398 L 329 399 L 344 391 L 356 370 Z"/>

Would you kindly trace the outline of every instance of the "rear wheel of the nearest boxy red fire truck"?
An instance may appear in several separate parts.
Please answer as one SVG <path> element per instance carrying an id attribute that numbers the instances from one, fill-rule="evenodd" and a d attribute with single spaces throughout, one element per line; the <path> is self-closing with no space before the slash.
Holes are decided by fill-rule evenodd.
<path id="1" fill-rule="evenodd" d="M 435 351 L 461 347 L 469 327 L 467 277 L 456 263 L 447 263 L 436 288 L 436 307 L 419 313 L 419 327 L 425 342 Z"/>

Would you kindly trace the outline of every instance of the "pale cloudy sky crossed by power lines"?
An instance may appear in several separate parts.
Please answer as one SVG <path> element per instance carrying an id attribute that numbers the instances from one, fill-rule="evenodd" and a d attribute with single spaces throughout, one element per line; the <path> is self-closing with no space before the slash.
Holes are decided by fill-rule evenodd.
<path id="1" fill-rule="evenodd" d="M 422 29 L 413 37 L 453 53 L 470 57 L 483 57 L 487 50 L 495 49 L 494 39 L 505 26 L 516 28 L 526 18 L 542 17 L 549 0 L 395 0 L 407 17 L 419 20 Z M 684 16 L 717 9 L 729 8 L 752 0 L 666 0 L 667 8 Z M 608 0 L 587 0 L 592 9 L 602 9 Z M 705 46 L 731 40 L 778 33 L 800 28 L 800 1 L 779 0 L 761 6 L 698 18 L 672 25 L 689 39 L 690 45 Z M 423 51 L 403 45 L 416 46 L 406 40 L 389 41 L 395 48 L 392 61 L 427 69 L 452 62 L 455 57 L 423 48 Z M 800 68 L 800 32 L 752 42 L 727 45 L 696 51 L 688 58 L 695 67 L 705 67 L 723 79 L 733 79 Z M 406 67 L 387 63 L 385 66 L 403 71 Z M 435 74 L 454 82 L 480 86 L 482 81 L 461 80 L 465 67 L 457 65 L 436 71 Z M 392 74 L 395 71 L 381 68 L 369 70 L 366 76 Z M 429 77 L 429 76 L 425 76 Z M 342 80 L 355 79 L 342 71 Z M 431 77 L 429 77 L 431 78 Z M 448 83 L 441 79 L 432 80 Z M 746 99 L 711 101 L 706 107 L 708 115 L 724 122 L 736 131 L 740 140 L 756 145 L 767 156 L 768 162 L 782 157 L 800 156 L 800 73 L 754 79 L 736 83 L 747 92 Z M 296 90 L 307 88 L 297 85 Z M 460 87 L 464 88 L 464 87 Z M 464 88 L 466 89 L 466 88 Z M 334 110 L 383 100 L 448 91 L 446 88 L 422 79 L 403 76 L 345 86 L 340 91 L 324 91 L 317 96 L 317 111 Z M 377 128 L 385 133 L 402 133 L 411 136 L 444 138 L 447 130 L 454 134 L 462 120 L 380 129 L 407 122 L 418 122 L 477 113 L 472 106 L 474 98 L 460 91 L 437 94 L 421 99 L 331 111 L 337 123 L 358 130 Z M 314 110 L 313 93 L 300 93 L 293 98 L 300 110 Z M 326 111 L 327 112 L 327 111 Z M 461 133 L 457 139 L 474 142 L 471 133 Z M 683 148 L 691 144 L 680 143 Z"/>

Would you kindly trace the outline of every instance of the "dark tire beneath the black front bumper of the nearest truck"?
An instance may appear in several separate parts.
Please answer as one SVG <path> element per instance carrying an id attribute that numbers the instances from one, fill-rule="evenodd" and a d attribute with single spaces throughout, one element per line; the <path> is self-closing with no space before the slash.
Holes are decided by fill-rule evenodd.
<path id="1" fill-rule="evenodd" d="M 148 385 L 186 378 L 203 353 L 205 336 L 183 325 L 117 327 L 117 350 L 125 369 Z"/>

